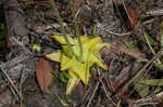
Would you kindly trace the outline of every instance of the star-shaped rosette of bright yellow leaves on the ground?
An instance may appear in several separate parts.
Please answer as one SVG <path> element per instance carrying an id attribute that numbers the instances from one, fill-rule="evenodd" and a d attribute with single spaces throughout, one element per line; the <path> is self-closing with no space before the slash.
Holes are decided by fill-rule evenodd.
<path id="1" fill-rule="evenodd" d="M 58 50 L 46 56 L 51 61 L 61 63 L 62 71 L 68 71 L 70 80 L 67 82 L 66 94 L 70 94 L 80 80 L 85 84 L 88 84 L 89 69 L 93 64 L 106 69 L 106 66 L 99 55 L 99 51 L 109 44 L 103 43 L 100 37 L 88 38 L 87 36 L 82 36 L 83 54 L 80 56 L 78 39 L 72 38 L 70 35 L 66 37 L 71 45 L 66 44 L 63 36 L 52 36 L 54 40 L 62 44 L 62 50 Z M 71 50 L 68 50 L 70 48 Z"/>

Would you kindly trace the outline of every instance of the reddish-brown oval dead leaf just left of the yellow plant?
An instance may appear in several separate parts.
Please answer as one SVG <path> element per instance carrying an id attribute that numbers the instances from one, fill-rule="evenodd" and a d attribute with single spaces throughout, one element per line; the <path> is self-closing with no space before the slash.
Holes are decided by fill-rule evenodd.
<path id="1" fill-rule="evenodd" d="M 36 77 L 42 92 L 46 92 L 52 79 L 52 66 L 43 58 L 40 58 L 35 66 Z"/>

